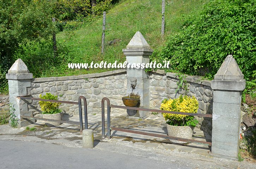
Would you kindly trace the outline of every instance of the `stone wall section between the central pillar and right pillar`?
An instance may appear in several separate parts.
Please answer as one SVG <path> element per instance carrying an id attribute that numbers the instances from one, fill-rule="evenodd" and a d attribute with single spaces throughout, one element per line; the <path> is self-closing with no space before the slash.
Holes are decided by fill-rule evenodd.
<path id="1" fill-rule="evenodd" d="M 178 76 L 174 73 L 165 73 L 165 71 L 157 70 L 150 72 L 150 108 L 159 109 L 163 99 L 178 98 L 179 95 L 184 95 L 185 90 L 177 90 L 179 81 Z M 187 95 L 195 96 L 198 100 L 198 113 L 212 114 L 213 93 L 211 83 L 207 80 L 200 80 L 196 76 L 187 76 Z M 177 90 L 177 92 L 176 92 Z M 199 125 L 203 131 L 212 133 L 212 119 L 199 118 Z"/>

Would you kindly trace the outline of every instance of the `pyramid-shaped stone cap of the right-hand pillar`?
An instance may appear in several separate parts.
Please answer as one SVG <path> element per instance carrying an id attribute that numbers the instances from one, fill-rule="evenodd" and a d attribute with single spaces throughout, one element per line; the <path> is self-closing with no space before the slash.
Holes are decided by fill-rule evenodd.
<path id="1" fill-rule="evenodd" d="M 214 80 L 243 80 L 244 75 L 232 55 L 228 55 L 214 75 Z"/>

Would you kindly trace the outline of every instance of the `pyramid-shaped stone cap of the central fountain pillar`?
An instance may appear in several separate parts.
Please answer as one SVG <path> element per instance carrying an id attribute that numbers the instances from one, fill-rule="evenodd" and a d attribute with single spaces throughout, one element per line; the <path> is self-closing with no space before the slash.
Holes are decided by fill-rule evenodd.
<path id="1" fill-rule="evenodd" d="M 141 32 L 137 31 L 135 35 L 132 37 L 126 49 L 134 49 L 134 48 L 145 48 L 150 49 L 150 46 L 147 40 L 143 37 Z"/>

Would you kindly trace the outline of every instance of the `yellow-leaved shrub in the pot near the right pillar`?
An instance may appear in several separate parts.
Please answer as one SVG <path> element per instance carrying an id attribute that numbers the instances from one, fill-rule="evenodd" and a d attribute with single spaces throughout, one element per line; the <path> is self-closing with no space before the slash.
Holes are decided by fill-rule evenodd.
<path id="1" fill-rule="evenodd" d="M 198 101 L 194 96 L 180 96 L 177 99 L 164 99 L 162 101 L 161 110 L 185 113 L 197 113 Z M 194 116 L 183 114 L 162 113 L 166 123 L 173 126 L 192 126 L 198 123 Z"/>

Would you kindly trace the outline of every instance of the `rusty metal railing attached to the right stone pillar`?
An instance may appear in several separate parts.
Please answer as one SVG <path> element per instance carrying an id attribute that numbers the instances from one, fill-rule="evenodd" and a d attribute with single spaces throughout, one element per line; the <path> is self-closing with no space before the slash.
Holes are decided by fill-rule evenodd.
<path id="1" fill-rule="evenodd" d="M 110 105 L 110 101 L 109 101 L 108 98 L 103 98 L 101 100 L 102 138 L 105 138 L 105 101 L 107 101 L 107 137 L 108 137 L 108 139 L 110 139 L 111 130 L 115 130 L 115 131 L 123 131 L 123 132 L 141 134 L 141 135 L 145 135 L 145 136 L 153 136 L 153 137 L 160 137 L 160 138 L 166 138 L 166 139 L 173 139 L 173 140 L 178 140 L 178 141 L 182 141 L 182 142 L 204 144 L 204 145 L 209 145 L 209 146 L 212 145 L 211 142 L 204 142 L 204 141 L 193 140 L 193 139 L 172 137 L 172 136 L 167 136 L 167 135 L 162 135 L 162 134 L 155 134 L 155 133 L 135 131 L 135 130 L 130 130 L 130 129 L 123 129 L 123 128 L 118 128 L 118 127 L 111 127 L 111 125 L 110 125 L 110 110 L 111 110 L 111 107 L 113 107 L 113 108 L 141 110 L 141 111 L 149 111 L 149 112 L 157 112 L 157 113 L 192 115 L 192 116 L 208 117 L 208 118 L 212 118 L 212 114 L 184 113 L 184 112 L 164 111 L 164 110 L 158 110 L 158 109 L 148 109 L 148 108 L 139 108 L 139 107 L 127 107 L 127 106 Z"/>

